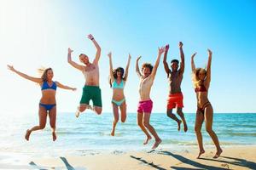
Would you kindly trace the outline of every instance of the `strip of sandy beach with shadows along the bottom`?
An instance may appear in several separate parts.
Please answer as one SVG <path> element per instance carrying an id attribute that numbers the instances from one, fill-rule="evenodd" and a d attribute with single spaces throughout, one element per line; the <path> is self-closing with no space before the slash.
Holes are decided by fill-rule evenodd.
<path id="1" fill-rule="evenodd" d="M 256 146 L 224 147 L 222 156 L 212 159 L 213 147 L 206 148 L 201 159 L 196 159 L 197 149 L 159 149 L 94 153 L 84 156 L 26 158 L 0 163 L 0 169 L 256 169 Z M 2 161 L 3 162 L 3 156 Z"/>

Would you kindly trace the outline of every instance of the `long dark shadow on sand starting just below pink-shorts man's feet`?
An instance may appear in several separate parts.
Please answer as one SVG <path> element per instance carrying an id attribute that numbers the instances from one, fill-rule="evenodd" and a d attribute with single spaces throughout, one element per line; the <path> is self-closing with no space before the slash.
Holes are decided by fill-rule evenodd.
<path id="1" fill-rule="evenodd" d="M 192 161 L 186 157 L 183 157 L 183 156 L 180 156 L 177 154 L 172 154 L 172 152 L 169 152 L 169 151 L 160 151 L 159 154 L 172 156 L 172 157 L 176 158 L 178 161 L 182 161 L 183 163 L 186 163 L 186 164 L 189 164 L 191 166 L 201 168 L 201 169 L 212 169 L 212 170 L 228 169 L 228 168 L 224 168 L 224 167 L 213 167 L 213 166 L 209 166 L 209 165 L 204 165 L 199 162 Z M 173 169 L 195 169 L 195 168 L 188 168 L 188 167 L 173 167 L 173 166 L 171 166 L 171 168 L 173 168 Z"/>

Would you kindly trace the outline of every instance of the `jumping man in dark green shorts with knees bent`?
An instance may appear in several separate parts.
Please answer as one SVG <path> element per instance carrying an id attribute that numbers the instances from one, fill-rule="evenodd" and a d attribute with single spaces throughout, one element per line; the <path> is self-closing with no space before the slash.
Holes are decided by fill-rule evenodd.
<path id="1" fill-rule="evenodd" d="M 79 59 L 84 65 L 79 65 L 71 59 L 73 50 L 68 48 L 67 62 L 74 68 L 82 71 L 85 78 L 82 98 L 76 116 L 79 117 L 80 112 L 86 109 L 91 109 L 100 115 L 102 113 L 102 92 L 99 87 L 99 59 L 101 56 L 101 47 L 96 42 L 95 38 L 90 34 L 88 38 L 93 42 L 96 47 L 96 57 L 92 63 L 89 61 L 89 57 L 86 54 L 80 54 Z M 90 99 L 93 102 L 93 108 L 89 105 Z"/>

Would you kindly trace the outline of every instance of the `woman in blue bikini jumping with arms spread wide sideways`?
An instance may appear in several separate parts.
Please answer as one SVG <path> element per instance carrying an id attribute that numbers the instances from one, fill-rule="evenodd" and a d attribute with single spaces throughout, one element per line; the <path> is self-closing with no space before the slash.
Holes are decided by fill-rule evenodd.
<path id="1" fill-rule="evenodd" d="M 37 77 L 30 77 L 26 74 L 16 71 L 15 68 L 12 65 L 8 65 L 10 71 L 14 71 L 16 74 L 18 74 L 20 77 L 26 78 L 27 80 L 30 80 L 32 82 L 37 82 L 42 91 L 42 98 L 40 99 L 39 103 L 39 125 L 34 126 L 31 129 L 26 130 L 25 139 L 29 140 L 29 136 L 32 133 L 32 131 L 42 130 L 45 127 L 46 124 L 46 118 L 47 118 L 47 112 L 49 112 L 49 125 L 52 128 L 52 139 L 55 141 L 56 134 L 55 134 L 55 122 L 56 122 L 56 100 L 55 100 L 55 94 L 56 94 L 56 88 L 64 88 L 68 90 L 76 90 L 76 88 L 70 88 L 68 86 L 62 85 L 60 82 L 53 82 L 52 78 L 54 76 L 53 71 L 51 68 L 48 68 L 44 70 L 44 73 L 41 78 Z"/>

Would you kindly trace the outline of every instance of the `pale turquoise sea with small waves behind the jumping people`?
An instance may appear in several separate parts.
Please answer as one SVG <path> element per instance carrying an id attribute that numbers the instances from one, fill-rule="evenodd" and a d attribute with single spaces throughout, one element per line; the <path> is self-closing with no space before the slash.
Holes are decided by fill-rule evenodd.
<path id="1" fill-rule="evenodd" d="M 197 147 L 194 125 L 195 114 L 185 113 L 189 130 L 177 131 L 177 123 L 164 113 L 152 113 L 151 124 L 162 139 L 159 148 Z M 154 144 L 143 145 L 144 133 L 137 126 L 137 114 L 128 113 L 125 123 L 119 122 L 115 136 L 110 135 L 113 114 L 92 112 L 76 118 L 74 113 L 57 113 L 57 140 L 52 141 L 49 119 L 42 131 L 33 132 L 30 141 L 24 139 L 26 129 L 38 124 L 37 113 L 1 114 L 0 152 L 26 154 L 28 156 L 61 156 L 63 154 L 83 156 L 103 151 L 122 152 L 129 150 L 151 150 Z M 256 114 L 214 113 L 213 130 L 221 146 L 256 144 Z M 212 139 L 202 127 L 203 142 L 211 145 Z"/>

